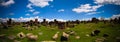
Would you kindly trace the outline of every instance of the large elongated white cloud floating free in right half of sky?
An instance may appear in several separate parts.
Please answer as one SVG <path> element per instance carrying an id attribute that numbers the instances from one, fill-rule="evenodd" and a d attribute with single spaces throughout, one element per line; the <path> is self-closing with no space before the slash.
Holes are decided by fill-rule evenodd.
<path id="1" fill-rule="evenodd" d="M 102 5 L 96 5 L 96 6 L 91 6 L 90 4 L 84 4 L 80 5 L 80 7 L 72 9 L 72 11 L 76 13 L 82 13 L 82 12 L 95 12 L 97 11 L 98 8 L 100 8 Z"/>

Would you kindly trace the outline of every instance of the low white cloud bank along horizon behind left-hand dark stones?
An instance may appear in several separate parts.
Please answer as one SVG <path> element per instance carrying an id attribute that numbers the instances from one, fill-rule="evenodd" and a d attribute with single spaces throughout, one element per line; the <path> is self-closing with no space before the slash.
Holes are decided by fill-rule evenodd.
<path id="1" fill-rule="evenodd" d="M 46 19 L 46 21 L 50 22 L 50 21 L 54 21 L 54 19 L 48 19 L 48 18 L 42 18 L 39 16 L 35 16 L 35 17 L 29 17 L 29 18 L 24 18 L 24 17 L 20 17 L 20 18 L 12 18 L 12 20 L 14 20 L 15 22 L 27 22 L 30 20 L 35 20 L 38 19 L 39 22 L 42 22 L 43 19 Z M 0 22 L 7 22 L 8 18 L 0 18 Z M 57 21 L 61 21 L 61 22 L 65 22 L 66 20 L 64 19 L 56 19 Z"/>

